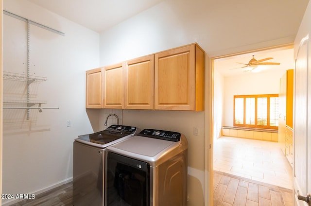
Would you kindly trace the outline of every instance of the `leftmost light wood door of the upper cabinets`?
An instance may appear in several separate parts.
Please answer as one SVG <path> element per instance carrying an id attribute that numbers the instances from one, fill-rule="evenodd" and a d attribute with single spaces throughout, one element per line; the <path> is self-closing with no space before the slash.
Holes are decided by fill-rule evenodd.
<path id="1" fill-rule="evenodd" d="M 103 68 L 86 71 L 86 108 L 103 108 Z"/>

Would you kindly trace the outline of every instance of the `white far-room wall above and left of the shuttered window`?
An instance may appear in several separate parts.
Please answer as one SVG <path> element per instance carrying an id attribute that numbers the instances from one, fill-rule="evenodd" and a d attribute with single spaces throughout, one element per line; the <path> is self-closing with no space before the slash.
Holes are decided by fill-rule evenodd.
<path id="1" fill-rule="evenodd" d="M 285 72 L 285 70 L 284 70 Z M 224 125 L 233 126 L 233 96 L 248 94 L 278 94 L 283 72 L 249 73 L 225 77 Z"/>

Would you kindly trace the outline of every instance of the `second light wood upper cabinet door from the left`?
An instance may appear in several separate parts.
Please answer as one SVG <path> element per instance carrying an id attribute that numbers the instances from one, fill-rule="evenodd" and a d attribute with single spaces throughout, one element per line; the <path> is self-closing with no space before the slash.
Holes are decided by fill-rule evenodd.
<path id="1" fill-rule="evenodd" d="M 124 109 L 125 63 L 104 67 L 104 108 Z"/>

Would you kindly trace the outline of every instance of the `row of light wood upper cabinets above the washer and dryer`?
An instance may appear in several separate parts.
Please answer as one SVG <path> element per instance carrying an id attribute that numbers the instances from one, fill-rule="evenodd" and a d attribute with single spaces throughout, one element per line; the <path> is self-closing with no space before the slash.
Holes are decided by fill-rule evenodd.
<path id="1" fill-rule="evenodd" d="M 86 71 L 86 108 L 204 110 L 204 51 L 196 44 Z"/>

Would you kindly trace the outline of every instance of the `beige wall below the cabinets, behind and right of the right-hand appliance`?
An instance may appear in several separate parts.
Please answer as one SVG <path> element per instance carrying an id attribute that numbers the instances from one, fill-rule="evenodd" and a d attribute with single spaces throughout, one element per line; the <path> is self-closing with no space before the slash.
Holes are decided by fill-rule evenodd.
<path id="1" fill-rule="evenodd" d="M 185 111 L 124 110 L 123 124 L 139 129 L 161 129 L 183 133 L 188 140 L 188 205 L 201 205 L 204 194 L 205 113 Z M 199 136 L 193 135 L 199 127 Z M 151 145 L 152 146 L 152 145 Z M 199 197 L 199 199 L 198 199 Z M 192 203 L 192 204 L 191 204 Z"/>

